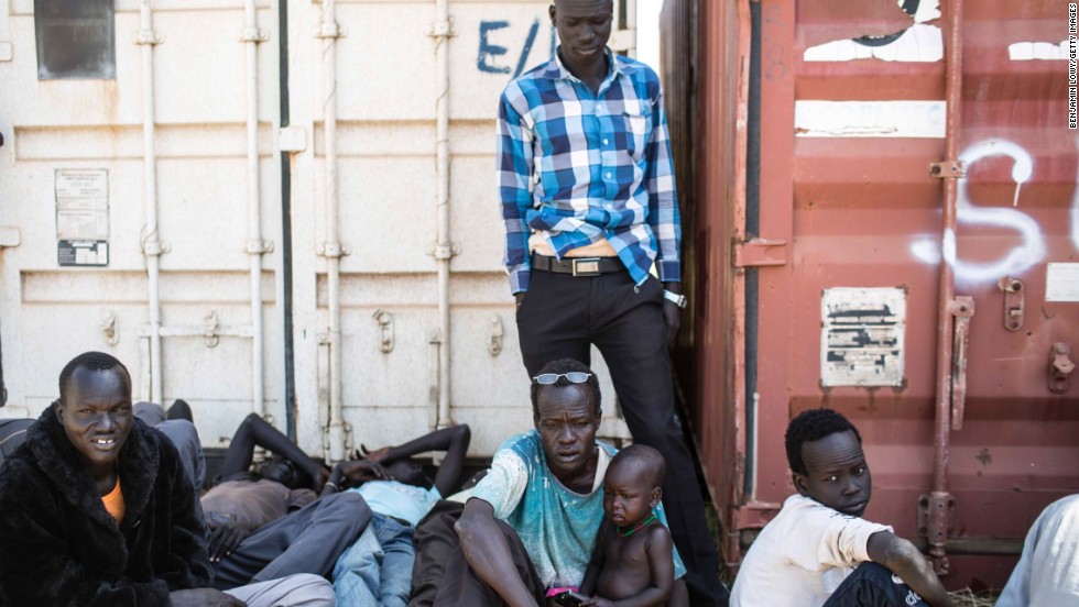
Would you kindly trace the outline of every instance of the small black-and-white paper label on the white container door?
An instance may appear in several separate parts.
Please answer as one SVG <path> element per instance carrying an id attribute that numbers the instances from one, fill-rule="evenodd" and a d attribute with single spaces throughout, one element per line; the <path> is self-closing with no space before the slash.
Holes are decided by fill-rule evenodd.
<path id="1" fill-rule="evenodd" d="M 57 263 L 64 266 L 107 265 L 109 172 L 103 168 L 57 168 L 55 191 Z"/>

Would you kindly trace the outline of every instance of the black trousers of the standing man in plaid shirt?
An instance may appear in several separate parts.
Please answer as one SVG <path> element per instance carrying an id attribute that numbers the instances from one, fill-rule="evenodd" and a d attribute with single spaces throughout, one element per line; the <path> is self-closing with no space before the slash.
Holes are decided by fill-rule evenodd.
<path id="1" fill-rule="evenodd" d="M 517 308 L 517 336 L 530 377 L 557 358 L 591 365 L 589 346 L 599 349 L 633 440 L 666 460 L 663 507 L 689 572 L 690 603 L 727 605 L 696 468 L 674 415 L 666 331 L 663 285 L 650 277 L 637 287 L 629 272 L 575 277 L 533 269 Z"/>

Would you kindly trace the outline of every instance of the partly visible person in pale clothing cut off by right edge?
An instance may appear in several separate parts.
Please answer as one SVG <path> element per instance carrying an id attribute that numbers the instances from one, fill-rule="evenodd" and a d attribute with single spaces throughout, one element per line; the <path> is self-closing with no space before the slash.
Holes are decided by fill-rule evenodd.
<path id="1" fill-rule="evenodd" d="M 1079 494 L 1046 506 L 996 607 L 1079 605 Z"/>

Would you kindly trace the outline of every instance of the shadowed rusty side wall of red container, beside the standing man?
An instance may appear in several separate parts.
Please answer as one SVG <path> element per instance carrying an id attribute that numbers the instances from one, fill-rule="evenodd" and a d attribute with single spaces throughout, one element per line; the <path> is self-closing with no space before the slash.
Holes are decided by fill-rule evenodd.
<path id="1" fill-rule="evenodd" d="M 685 172 L 678 185 L 693 349 L 676 362 L 712 498 L 724 505 L 741 500 L 745 472 L 745 402 L 730 396 L 744 394 L 744 324 L 734 304 L 744 297 L 742 273 L 720 268 L 731 266 L 732 239 L 744 239 L 749 2 L 666 0 L 662 27 L 672 140 L 688 142 L 674 152 Z M 737 526 L 722 523 L 724 559 L 737 561 Z"/>

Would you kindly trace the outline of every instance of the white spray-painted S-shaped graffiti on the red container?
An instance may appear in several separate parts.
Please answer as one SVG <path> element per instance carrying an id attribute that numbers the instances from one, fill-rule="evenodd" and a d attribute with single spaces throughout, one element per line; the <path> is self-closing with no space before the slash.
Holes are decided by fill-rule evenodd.
<path id="1" fill-rule="evenodd" d="M 1034 161 L 1031 155 L 1013 142 L 1002 139 L 989 139 L 964 150 L 959 159 L 962 161 L 967 170 L 979 161 L 993 156 L 1007 156 L 1012 158 L 1012 181 L 1015 184 L 1015 196 L 1013 207 L 1017 205 L 1020 191 L 1031 175 L 1034 173 Z M 944 257 L 955 268 L 956 278 L 960 282 L 993 283 L 1001 276 L 1020 276 L 1025 271 L 1042 262 L 1046 255 L 1045 239 L 1042 229 L 1031 216 L 1017 209 L 1005 207 L 982 207 L 973 205 L 967 191 L 967 178 L 959 179 L 958 196 L 956 200 L 956 220 L 966 225 L 980 225 L 999 228 L 1015 231 L 1021 238 L 1021 243 L 1010 251 L 1003 252 L 1001 256 L 988 262 L 969 262 L 960 260 L 956 254 L 956 234 L 946 232 L 944 234 Z M 1072 207 L 1072 222 L 1079 220 L 1077 209 Z M 1073 235 L 1075 229 L 1073 223 Z M 927 263 L 940 263 L 941 249 L 935 239 L 924 238 L 915 241 L 911 246 L 916 257 Z"/>

